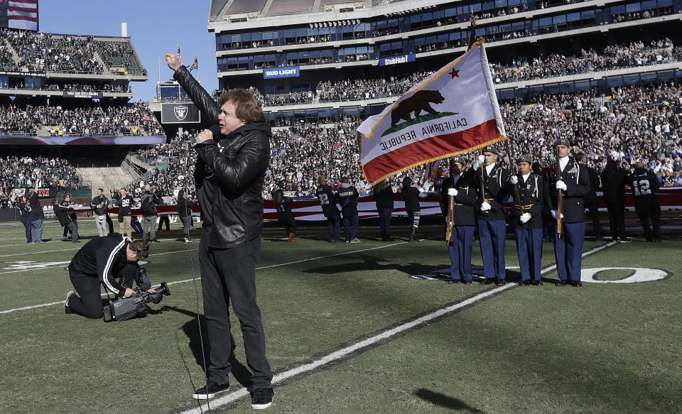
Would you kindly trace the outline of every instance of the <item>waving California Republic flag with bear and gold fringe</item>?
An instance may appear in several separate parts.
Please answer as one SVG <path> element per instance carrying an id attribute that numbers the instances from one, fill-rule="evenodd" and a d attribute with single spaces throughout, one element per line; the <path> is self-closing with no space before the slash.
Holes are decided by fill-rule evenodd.
<path id="1" fill-rule="evenodd" d="M 482 42 L 357 129 L 368 181 L 507 138 Z"/>

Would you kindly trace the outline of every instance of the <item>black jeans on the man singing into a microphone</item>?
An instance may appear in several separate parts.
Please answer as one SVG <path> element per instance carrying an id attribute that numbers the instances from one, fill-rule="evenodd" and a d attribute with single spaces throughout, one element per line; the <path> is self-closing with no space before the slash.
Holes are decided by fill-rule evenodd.
<path id="1" fill-rule="evenodd" d="M 265 357 L 265 331 L 261 310 L 256 304 L 256 261 L 261 254 L 261 238 L 230 249 L 212 249 L 208 246 L 208 240 L 208 230 L 202 229 L 199 263 L 211 349 L 208 378 L 225 383 L 227 374 L 232 370 L 228 361 L 232 354 L 229 336 L 229 300 L 232 300 L 232 308 L 242 328 L 253 386 L 269 388 L 272 371 Z"/>

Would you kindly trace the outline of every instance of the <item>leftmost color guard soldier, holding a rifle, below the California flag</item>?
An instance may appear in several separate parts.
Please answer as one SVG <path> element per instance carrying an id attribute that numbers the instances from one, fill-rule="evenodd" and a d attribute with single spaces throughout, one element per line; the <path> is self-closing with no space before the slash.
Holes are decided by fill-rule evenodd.
<path id="1" fill-rule="evenodd" d="M 447 223 L 453 226 L 453 243 L 450 244 L 450 280 L 448 283 L 472 283 L 471 251 L 474 244 L 476 217 L 474 208 L 477 205 L 476 187 L 471 179 L 473 175 L 465 175 L 466 163 L 462 158 L 453 162 L 450 177 L 443 182 L 443 189 L 448 196 L 454 197 L 454 220 Z M 448 197 L 449 199 L 450 197 Z M 447 221 L 448 214 L 445 214 Z"/>

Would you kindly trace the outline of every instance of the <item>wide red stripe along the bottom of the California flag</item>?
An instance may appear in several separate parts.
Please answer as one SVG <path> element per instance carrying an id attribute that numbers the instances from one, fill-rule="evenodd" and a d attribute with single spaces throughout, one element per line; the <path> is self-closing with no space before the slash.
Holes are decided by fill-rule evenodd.
<path id="1" fill-rule="evenodd" d="M 465 131 L 425 138 L 378 156 L 364 165 L 364 173 L 367 179 L 373 182 L 394 173 L 396 169 L 421 163 L 425 159 L 467 151 L 498 137 L 497 123 L 494 119 L 490 119 Z M 401 165 L 401 167 L 396 168 L 396 165 Z"/>

